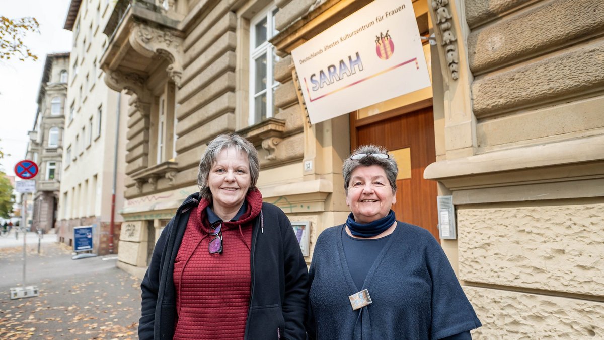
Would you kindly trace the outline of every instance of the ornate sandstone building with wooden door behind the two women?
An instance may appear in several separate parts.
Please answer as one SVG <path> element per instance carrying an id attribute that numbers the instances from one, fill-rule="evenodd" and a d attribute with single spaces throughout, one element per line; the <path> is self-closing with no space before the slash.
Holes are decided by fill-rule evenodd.
<path id="1" fill-rule="evenodd" d="M 291 51 L 369 2 L 117 2 L 100 65 L 132 94 L 118 265 L 144 273 L 206 143 L 233 131 L 259 150 L 264 200 L 308 223 L 310 263 L 349 213 L 342 159 L 378 143 L 401 169 L 400 220 L 439 237 L 452 196 L 457 239 L 440 243 L 475 338 L 602 336 L 602 7 L 413 1 L 432 87 L 311 124 Z"/>

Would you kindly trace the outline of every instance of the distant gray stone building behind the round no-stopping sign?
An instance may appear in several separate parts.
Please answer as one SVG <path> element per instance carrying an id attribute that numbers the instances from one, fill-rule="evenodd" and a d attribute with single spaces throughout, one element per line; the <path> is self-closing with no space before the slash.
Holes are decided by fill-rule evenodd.
<path id="1" fill-rule="evenodd" d="M 37 97 L 37 112 L 25 159 L 38 165 L 33 200 L 31 230 L 46 233 L 54 230 L 59 203 L 65 103 L 69 77 L 69 53 L 47 54 Z M 28 218 L 29 219 L 29 218 Z"/>

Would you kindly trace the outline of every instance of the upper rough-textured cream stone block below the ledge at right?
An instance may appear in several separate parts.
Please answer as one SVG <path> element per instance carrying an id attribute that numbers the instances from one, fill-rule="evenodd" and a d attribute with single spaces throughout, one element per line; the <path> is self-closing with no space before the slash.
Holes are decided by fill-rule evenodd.
<path id="1" fill-rule="evenodd" d="M 604 296 L 604 204 L 458 209 L 459 277 Z"/>

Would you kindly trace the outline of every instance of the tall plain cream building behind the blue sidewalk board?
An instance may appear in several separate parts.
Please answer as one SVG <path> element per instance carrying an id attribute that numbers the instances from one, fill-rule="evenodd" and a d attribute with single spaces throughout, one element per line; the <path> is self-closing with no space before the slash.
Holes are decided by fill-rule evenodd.
<path id="1" fill-rule="evenodd" d="M 128 96 L 110 90 L 98 68 L 107 44 L 103 27 L 114 3 L 72 0 L 64 27 L 73 31 L 74 41 L 57 228 L 59 241 L 72 245 L 73 227 L 95 226 L 94 251 L 98 254 L 109 253 L 112 231 L 117 252 L 122 221 L 120 215 L 112 214 L 112 192 L 124 186 Z M 123 204 L 122 192 L 115 191 L 118 206 Z"/>

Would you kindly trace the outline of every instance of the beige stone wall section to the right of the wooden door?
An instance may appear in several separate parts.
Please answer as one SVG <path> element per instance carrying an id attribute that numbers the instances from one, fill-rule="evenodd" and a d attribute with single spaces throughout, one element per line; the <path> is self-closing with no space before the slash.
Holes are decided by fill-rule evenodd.
<path id="1" fill-rule="evenodd" d="M 474 334 L 602 338 L 604 8 L 430 5 L 464 47 L 457 80 L 441 58 L 445 147 L 425 177 L 453 196 L 451 254 L 485 325 Z"/>

